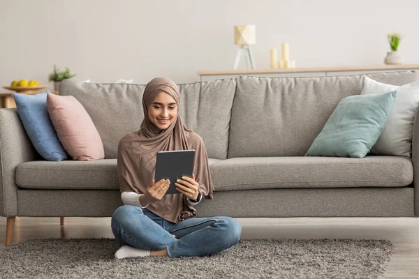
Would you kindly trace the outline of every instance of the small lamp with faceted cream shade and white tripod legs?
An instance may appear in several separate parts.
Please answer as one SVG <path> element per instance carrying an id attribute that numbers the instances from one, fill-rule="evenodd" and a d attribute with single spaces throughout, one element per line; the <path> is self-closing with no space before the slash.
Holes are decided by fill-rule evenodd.
<path id="1" fill-rule="evenodd" d="M 237 25 L 234 27 L 234 43 L 235 45 L 240 45 L 240 48 L 237 50 L 237 55 L 234 63 L 234 69 L 237 69 L 240 61 L 240 54 L 242 51 L 246 55 L 247 68 L 249 64 L 252 69 L 255 68 L 255 63 L 253 61 L 253 55 L 251 54 L 250 45 L 256 44 L 256 26 L 255 25 Z"/>

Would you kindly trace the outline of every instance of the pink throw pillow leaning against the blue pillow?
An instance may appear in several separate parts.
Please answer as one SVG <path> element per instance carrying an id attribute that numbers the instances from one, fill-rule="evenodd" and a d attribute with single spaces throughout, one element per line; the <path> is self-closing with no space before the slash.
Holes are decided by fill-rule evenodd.
<path id="1" fill-rule="evenodd" d="M 73 160 L 105 158 L 101 136 L 76 98 L 48 93 L 47 109 L 59 141 Z"/>

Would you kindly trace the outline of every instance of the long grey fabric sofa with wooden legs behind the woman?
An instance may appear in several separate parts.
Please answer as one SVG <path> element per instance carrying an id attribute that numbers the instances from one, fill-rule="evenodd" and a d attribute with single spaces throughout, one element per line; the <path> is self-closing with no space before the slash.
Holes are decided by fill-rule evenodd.
<path id="1" fill-rule="evenodd" d="M 377 73 L 374 80 L 402 85 L 418 71 Z M 237 77 L 179 84 L 186 128 L 205 142 L 214 199 L 196 206 L 198 217 L 417 217 L 419 125 L 412 158 L 304 157 L 341 98 L 359 94 L 364 75 Z M 65 80 L 94 121 L 105 159 L 48 162 L 34 150 L 15 109 L 0 110 L 0 215 L 6 245 L 15 216 L 110 217 L 122 205 L 117 185 L 119 139 L 138 130 L 142 84 L 89 84 Z"/>

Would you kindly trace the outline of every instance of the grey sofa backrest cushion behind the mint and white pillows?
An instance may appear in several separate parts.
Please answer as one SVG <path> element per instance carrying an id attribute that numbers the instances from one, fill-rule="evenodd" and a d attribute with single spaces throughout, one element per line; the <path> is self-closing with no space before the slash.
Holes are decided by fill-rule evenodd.
<path id="1" fill-rule="evenodd" d="M 364 76 L 237 77 L 228 158 L 304 156 L 339 101 L 361 93 Z M 404 85 L 419 71 L 367 76 Z"/>

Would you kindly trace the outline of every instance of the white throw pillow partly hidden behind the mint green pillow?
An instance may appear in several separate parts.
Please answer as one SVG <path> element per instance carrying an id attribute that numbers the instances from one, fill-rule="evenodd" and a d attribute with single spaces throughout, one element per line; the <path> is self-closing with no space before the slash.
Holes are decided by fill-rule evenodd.
<path id="1" fill-rule="evenodd" d="M 361 95 L 397 90 L 397 97 L 387 123 L 371 153 L 376 155 L 411 156 L 413 121 L 419 105 L 419 81 L 403 86 L 384 84 L 365 77 Z"/>

